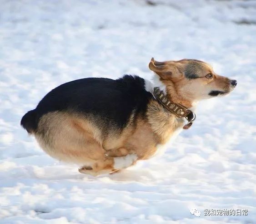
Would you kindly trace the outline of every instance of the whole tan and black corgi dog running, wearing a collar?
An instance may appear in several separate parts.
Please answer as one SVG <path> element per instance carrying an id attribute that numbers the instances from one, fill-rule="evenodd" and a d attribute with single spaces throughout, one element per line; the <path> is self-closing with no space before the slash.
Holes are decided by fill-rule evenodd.
<path id="1" fill-rule="evenodd" d="M 40 147 L 79 172 L 109 174 L 147 160 L 177 131 L 188 129 L 196 102 L 234 90 L 200 60 L 149 63 L 152 81 L 125 75 L 82 78 L 50 91 L 21 125 Z"/>

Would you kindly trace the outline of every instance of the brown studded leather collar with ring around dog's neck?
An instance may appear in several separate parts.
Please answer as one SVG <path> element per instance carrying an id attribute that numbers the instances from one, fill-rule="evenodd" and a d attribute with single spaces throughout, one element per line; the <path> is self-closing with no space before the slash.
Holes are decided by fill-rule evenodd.
<path id="1" fill-rule="evenodd" d="M 176 117 L 185 117 L 188 123 L 183 127 L 184 129 L 188 129 L 191 127 L 193 122 L 196 120 L 196 114 L 193 113 L 188 108 L 182 106 L 179 103 L 171 102 L 166 94 L 160 90 L 159 87 L 154 88 L 154 96 L 156 97 L 156 100 L 161 103 L 163 107 L 166 108 L 166 110 L 173 113 Z"/>

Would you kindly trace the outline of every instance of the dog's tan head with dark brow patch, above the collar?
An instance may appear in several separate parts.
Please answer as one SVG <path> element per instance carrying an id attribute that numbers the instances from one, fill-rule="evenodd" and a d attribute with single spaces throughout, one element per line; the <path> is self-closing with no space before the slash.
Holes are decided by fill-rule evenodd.
<path id="1" fill-rule="evenodd" d="M 223 96 L 236 87 L 236 80 L 217 75 L 209 64 L 196 59 L 157 62 L 152 58 L 149 68 L 159 76 L 167 94 L 191 102 Z"/>

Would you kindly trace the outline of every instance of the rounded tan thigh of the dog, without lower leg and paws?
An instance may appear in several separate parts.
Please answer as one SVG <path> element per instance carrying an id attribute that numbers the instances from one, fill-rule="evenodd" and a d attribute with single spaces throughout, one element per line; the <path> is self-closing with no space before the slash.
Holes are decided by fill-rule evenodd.
<path id="1" fill-rule="evenodd" d="M 40 146 L 50 156 L 80 164 L 104 159 L 102 134 L 89 121 L 67 112 L 50 112 L 40 118 L 35 133 Z"/>

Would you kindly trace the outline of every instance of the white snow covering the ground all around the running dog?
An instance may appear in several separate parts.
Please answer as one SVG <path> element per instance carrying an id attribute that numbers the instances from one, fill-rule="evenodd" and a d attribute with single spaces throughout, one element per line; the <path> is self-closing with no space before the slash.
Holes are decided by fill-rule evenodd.
<path id="1" fill-rule="evenodd" d="M 97 178 L 51 159 L 20 118 L 78 78 L 150 78 L 197 58 L 238 80 L 164 156 Z M 256 1 L 0 1 L 0 224 L 256 223 Z M 190 214 L 196 208 L 200 217 Z M 204 216 L 204 209 L 248 209 Z"/>

